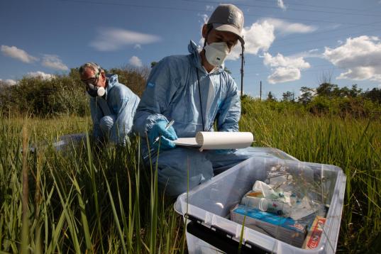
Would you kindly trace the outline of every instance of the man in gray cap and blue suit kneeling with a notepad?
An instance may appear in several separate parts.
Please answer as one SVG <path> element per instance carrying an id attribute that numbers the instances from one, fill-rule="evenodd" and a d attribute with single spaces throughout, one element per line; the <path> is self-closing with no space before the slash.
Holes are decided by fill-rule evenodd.
<path id="1" fill-rule="evenodd" d="M 223 70 L 223 60 L 238 40 L 243 45 L 242 27 L 242 11 L 222 4 L 202 28 L 203 48 L 191 41 L 189 55 L 165 57 L 150 72 L 133 130 L 142 138 L 145 162 L 158 164 L 158 184 L 167 195 L 186 192 L 188 180 L 192 189 L 258 152 L 255 148 L 200 152 L 172 142 L 195 137 L 198 131 L 214 131 L 215 122 L 217 131 L 238 131 L 240 96 L 236 82 Z M 175 123 L 168 128 L 171 120 Z M 159 143 L 157 158 L 150 152 L 158 150 Z"/>

